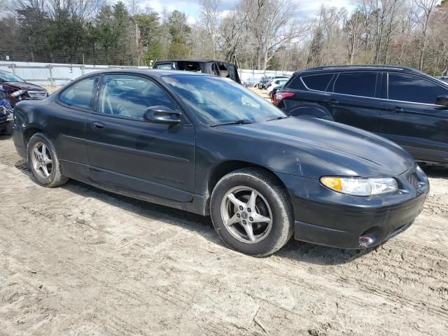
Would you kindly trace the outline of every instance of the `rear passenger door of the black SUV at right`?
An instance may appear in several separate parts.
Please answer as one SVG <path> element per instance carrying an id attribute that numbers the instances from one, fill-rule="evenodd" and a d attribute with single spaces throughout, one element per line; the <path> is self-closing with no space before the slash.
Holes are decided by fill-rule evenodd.
<path id="1" fill-rule="evenodd" d="M 330 83 L 327 104 L 335 121 L 370 132 L 378 132 L 381 118 L 379 74 L 376 71 L 350 71 L 337 74 Z"/>

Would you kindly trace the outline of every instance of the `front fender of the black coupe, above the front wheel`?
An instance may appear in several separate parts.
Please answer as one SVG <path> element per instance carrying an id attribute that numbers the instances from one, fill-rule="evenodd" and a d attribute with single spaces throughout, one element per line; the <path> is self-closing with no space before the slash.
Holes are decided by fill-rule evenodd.
<path id="1" fill-rule="evenodd" d="M 243 127 L 239 127 L 242 129 Z M 332 172 L 341 176 L 356 176 L 356 172 L 340 162 L 343 153 L 333 153 L 324 146 L 312 146 L 304 141 L 283 139 L 274 141 L 272 136 L 253 132 L 250 128 L 239 134 L 231 127 L 220 130 L 200 127 L 196 136 L 196 186 L 203 193 L 207 176 L 216 165 L 223 162 L 247 162 L 264 167 L 274 174 L 288 174 L 318 179 Z M 203 194 L 202 194 L 203 195 Z"/>

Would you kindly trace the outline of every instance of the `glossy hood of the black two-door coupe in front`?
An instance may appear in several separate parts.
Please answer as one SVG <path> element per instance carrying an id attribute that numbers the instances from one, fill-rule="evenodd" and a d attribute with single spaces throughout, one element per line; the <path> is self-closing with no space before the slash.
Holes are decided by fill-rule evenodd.
<path id="1" fill-rule="evenodd" d="M 414 159 L 397 144 L 370 132 L 328 120 L 290 117 L 249 125 L 232 125 L 233 132 L 265 140 L 275 172 L 318 179 L 320 176 L 398 176 Z M 263 141 L 262 141 L 263 142 Z"/>

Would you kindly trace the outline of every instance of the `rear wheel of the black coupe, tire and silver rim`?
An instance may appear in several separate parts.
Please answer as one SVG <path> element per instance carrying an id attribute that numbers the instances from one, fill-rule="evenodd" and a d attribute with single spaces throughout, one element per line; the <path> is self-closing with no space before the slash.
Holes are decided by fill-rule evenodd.
<path id="1" fill-rule="evenodd" d="M 45 157 L 40 155 L 41 158 L 39 160 L 39 155 L 34 153 L 35 149 L 37 149 L 37 152 L 39 153 L 45 153 Z M 29 169 L 31 169 L 34 179 L 36 179 L 38 184 L 44 187 L 54 188 L 62 186 L 69 181 L 67 177 L 62 175 L 61 165 L 57 158 L 55 146 L 53 146 L 52 142 L 45 136 L 45 134 L 36 133 L 29 139 L 27 153 Z M 43 170 L 43 165 L 45 165 L 45 171 Z M 45 174 L 45 172 L 48 176 L 46 176 L 47 174 Z"/>

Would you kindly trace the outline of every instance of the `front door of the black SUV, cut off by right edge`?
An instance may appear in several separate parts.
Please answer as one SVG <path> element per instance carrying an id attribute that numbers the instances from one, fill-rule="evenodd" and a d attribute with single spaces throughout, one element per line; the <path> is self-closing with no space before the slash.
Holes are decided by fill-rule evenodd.
<path id="1" fill-rule="evenodd" d="M 389 72 L 387 83 L 380 134 L 417 160 L 448 162 L 448 110 L 435 104 L 448 88 L 410 73 Z"/>

